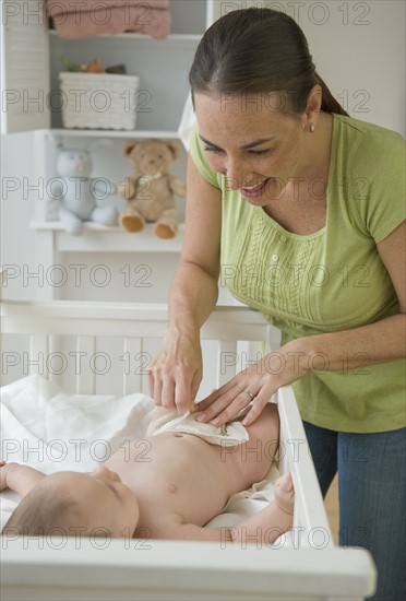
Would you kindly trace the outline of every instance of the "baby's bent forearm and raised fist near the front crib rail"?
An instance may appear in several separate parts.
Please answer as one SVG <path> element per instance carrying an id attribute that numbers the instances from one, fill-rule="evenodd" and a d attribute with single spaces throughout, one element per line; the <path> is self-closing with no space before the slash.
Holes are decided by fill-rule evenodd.
<path id="1" fill-rule="evenodd" d="M 294 522 L 295 491 L 290 473 L 278 478 L 275 483 L 275 499 L 264 509 L 241 521 L 234 528 L 227 528 L 228 541 L 247 544 L 273 544 L 278 537 L 287 532 Z M 223 537 L 224 540 L 225 537 Z"/>

